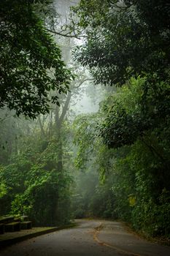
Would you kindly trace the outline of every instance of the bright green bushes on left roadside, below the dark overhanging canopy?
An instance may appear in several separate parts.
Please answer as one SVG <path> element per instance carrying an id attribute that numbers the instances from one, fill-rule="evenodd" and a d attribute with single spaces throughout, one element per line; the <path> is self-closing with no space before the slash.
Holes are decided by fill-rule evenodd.
<path id="1" fill-rule="evenodd" d="M 31 129 L 28 122 L 27 126 Z M 68 170 L 58 170 L 58 141 L 54 135 L 49 140 L 42 138 L 39 129 L 32 135 L 21 134 L 11 140 L 20 153 L 11 152 L 0 167 L 0 214 L 25 214 L 34 225 L 69 222 L 72 178 Z"/>

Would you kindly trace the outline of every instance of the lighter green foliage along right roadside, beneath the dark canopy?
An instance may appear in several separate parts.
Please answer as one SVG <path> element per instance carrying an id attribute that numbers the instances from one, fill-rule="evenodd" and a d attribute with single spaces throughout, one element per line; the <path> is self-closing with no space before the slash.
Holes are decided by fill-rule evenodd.
<path id="1" fill-rule="evenodd" d="M 110 119 L 113 112 L 117 115 L 116 111 L 123 108 L 124 113 L 135 118 L 134 113 L 140 110 L 143 83 L 142 78 L 131 79 L 127 86 L 103 102 L 102 110 L 97 115 L 80 116 L 75 121 L 77 167 L 84 172 L 90 167 L 100 179 L 99 186 L 94 182 L 93 196 L 88 197 L 88 201 L 85 199 L 87 195 L 78 189 L 82 200 L 81 197 L 77 200 L 82 202 L 82 206 L 79 203 L 80 208 L 76 213 L 120 218 L 131 222 L 136 230 L 141 230 L 145 235 L 169 236 L 169 125 L 162 124 L 163 127 L 148 129 L 144 134 L 134 136 L 132 124 L 125 123 L 124 117 L 116 116 L 109 131 L 112 137 L 108 136 L 107 140 L 113 143 L 112 147 L 118 148 L 108 148 L 104 144 L 107 143 L 106 138 L 98 137 L 98 127 L 100 130 L 106 129 L 106 132 L 109 129 L 107 119 L 103 124 L 106 114 Z M 115 120 L 119 121 L 119 127 L 116 127 Z M 132 145 L 129 143 L 131 137 Z M 123 146 L 126 141 L 130 146 Z M 92 183 L 93 176 L 88 180 Z M 80 186 L 89 191 L 87 181 Z M 88 202 L 88 206 L 87 203 L 84 206 L 83 202 Z M 82 211 L 83 207 L 88 211 Z"/>

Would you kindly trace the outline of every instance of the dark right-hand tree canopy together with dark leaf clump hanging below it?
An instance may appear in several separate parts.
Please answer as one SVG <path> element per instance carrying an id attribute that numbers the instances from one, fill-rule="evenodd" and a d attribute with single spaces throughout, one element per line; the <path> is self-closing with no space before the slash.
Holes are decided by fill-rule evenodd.
<path id="1" fill-rule="evenodd" d="M 128 113 L 113 99 L 100 127 L 105 143 L 131 145 L 149 129 L 168 127 L 169 1 L 82 0 L 74 12 L 87 37 L 75 56 L 90 67 L 96 83 L 123 86 L 132 77 L 144 78 L 138 111 Z"/>

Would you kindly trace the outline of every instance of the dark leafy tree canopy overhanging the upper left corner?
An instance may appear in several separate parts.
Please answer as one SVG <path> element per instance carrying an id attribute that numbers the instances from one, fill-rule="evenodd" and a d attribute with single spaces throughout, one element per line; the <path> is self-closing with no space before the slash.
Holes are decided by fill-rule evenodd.
<path id="1" fill-rule="evenodd" d="M 61 60 L 61 50 L 47 33 L 36 5 L 50 1 L 0 2 L 0 108 L 34 118 L 47 113 L 49 102 L 66 93 L 71 72 Z M 49 91 L 55 90 L 50 97 Z"/>

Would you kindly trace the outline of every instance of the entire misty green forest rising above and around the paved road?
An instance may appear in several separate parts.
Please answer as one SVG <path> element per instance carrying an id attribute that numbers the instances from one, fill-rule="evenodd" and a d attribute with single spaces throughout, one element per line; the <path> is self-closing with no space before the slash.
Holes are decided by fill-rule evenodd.
<path id="1" fill-rule="evenodd" d="M 1 0 L 0 13 L 0 214 L 169 238 L 169 2 Z"/>

